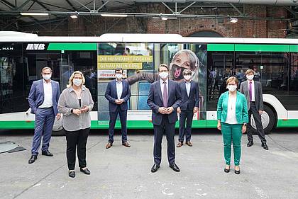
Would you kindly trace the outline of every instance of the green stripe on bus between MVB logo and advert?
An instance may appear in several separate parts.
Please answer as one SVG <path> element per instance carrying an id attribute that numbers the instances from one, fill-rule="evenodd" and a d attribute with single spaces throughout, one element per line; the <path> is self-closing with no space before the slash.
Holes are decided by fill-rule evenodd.
<path id="1" fill-rule="evenodd" d="M 96 43 L 52 42 L 48 50 L 97 50 Z"/>

